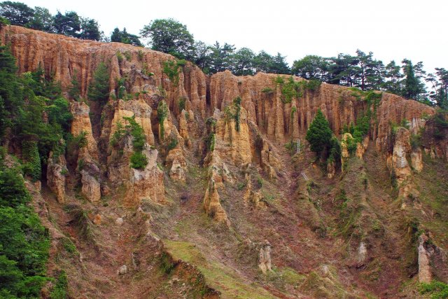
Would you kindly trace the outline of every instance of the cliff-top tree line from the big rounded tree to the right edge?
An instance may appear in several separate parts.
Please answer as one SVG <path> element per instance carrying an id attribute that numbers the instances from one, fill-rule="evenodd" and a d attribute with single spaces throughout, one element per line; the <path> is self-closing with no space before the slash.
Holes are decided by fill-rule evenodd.
<path id="1" fill-rule="evenodd" d="M 411 60 L 405 59 L 401 65 L 395 61 L 384 65 L 381 60 L 374 59 L 372 52 L 356 50 L 356 55 L 339 53 L 337 57 L 307 55 L 295 60 L 290 68 L 280 53 L 272 56 L 260 51 L 256 54 L 249 48 L 237 50 L 230 43 L 216 42 L 209 46 L 195 41 L 186 25 L 172 19 L 154 20 L 140 34 L 149 39 L 148 45 L 153 50 L 195 62 L 207 74 L 225 69 L 238 76 L 253 75 L 258 71 L 293 74 L 360 90 L 384 90 L 448 108 L 448 71 L 437 68 L 435 74 L 427 74 L 423 62 L 412 64 Z M 427 83 L 432 86 L 429 91 Z"/>

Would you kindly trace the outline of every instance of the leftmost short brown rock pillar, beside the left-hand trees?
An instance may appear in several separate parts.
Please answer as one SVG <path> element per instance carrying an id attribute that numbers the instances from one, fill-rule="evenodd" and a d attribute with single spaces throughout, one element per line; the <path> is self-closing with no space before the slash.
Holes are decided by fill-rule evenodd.
<path id="1" fill-rule="evenodd" d="M 69 173 L 64 155 L 50 153 L 47 165 L 47 186 L 56 195 L 57 202 L 65 201 L 65 176 Z"/>

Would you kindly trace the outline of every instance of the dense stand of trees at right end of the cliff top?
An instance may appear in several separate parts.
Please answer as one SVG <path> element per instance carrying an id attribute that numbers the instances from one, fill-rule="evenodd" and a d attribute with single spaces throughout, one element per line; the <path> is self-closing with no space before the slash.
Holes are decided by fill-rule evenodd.
<path id="1" fill-rule="evenodd" d="M 306 79 L 360 88 L 360 90 L 384 90 L 447 108 L 448 71 L 435 69 L 435 74 L 423 70 L 423 62 L 412 64 L 402 60 L 401 65 L 391 61 L 384 65 L 373 53 L 356 51 L 356 55 L 339 54 L 337 57 L 307 55 L 293 62 L 292 74 Z M 430 83 L 432 90 L 427 90 Z M 429 102 L 431 101 L 431 102 Z"/>

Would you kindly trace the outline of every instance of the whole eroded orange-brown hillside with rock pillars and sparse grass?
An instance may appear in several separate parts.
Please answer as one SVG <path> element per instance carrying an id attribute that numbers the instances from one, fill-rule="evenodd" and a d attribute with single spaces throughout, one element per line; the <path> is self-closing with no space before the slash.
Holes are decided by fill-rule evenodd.
<path id="1" fill-rule="evenodd" d="M 123 43 L 15 26 L 0 40 L 20 74 L 41 68 L 66 97 L 79 86 L 69 132 L 85 142 L 27 181 L 69 298 L 424 298 L 419 282 L 448 283 L 444 113 L 286 75 L 206 76 Z M 89 99 L 101 64 L 104 102 Z M 339 160 L 305 140 L 319 109 Z M 362 139 L 342 134 L 361 120 Z M 22 158 L 13 134 L 2 145 Z"/>

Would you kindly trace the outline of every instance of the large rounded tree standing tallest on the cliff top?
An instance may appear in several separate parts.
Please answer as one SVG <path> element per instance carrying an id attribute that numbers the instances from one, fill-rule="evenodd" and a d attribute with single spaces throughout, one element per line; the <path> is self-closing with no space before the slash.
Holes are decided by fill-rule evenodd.
<path id="1" fill-rule="evenodd" d="M 178 58 L 191 60 L 195 40 L 186 25 L 174 19 L 151 21 L 141 29 L 140 35 L 151 39 L 148 43 L 153 50 L 172 54 Z"/>

